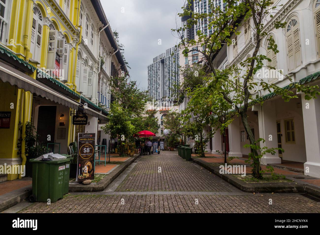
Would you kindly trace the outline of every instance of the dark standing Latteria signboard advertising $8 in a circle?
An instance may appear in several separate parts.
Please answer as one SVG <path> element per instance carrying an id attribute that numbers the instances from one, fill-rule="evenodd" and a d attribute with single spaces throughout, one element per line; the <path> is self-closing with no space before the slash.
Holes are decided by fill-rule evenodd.
<path id="1" fill-rule="evenodd" d="M 94 143 L 95 133 L 78 134 L 77 182 L 94 179 Z"/>

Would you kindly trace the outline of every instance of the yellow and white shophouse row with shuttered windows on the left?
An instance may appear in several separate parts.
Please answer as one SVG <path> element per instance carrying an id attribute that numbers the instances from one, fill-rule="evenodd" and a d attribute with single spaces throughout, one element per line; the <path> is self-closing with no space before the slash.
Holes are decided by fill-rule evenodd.
<path id="1" fill-rule="evenodd" d="M 25 165 L 27 157 L 35 157 L 26 156 L 28 123 L 44 146 L 54 153 L 68 153 L 77 133 L 97 135 L 98 123 L 107 121 L 108 109 L 103 105 L 108 101 L 100 99 L 100 79 L 107 83 L 116 69 L 118 74 L 127 72 L 101 3 L 6 0 L 0 4 L 4 9 L 0 15 L 0 165 Z M 101 66 L 101 43 L 109 55 L 104 61 L 114 65 L 112 69 Z M 78 114 L 88 116 L 87 125 L 73 125 Z M 8 174 L 6 179 L 18 177 Z"/>

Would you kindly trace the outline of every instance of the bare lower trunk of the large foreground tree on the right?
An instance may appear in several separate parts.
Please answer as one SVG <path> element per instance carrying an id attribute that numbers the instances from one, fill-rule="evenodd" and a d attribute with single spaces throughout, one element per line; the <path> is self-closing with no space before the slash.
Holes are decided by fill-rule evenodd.
<path id="1" fill-rule="evenodd" d="M 242 123 L 244 125 L 244 129 L 245 129 L 246 133 L 248 134 L 250 144 L 255 145 L 255 143 L 254 143 L 255 139 L 254 139 L 253 133 L 251 131 L 251 128 L 249 126 L 247 115 L 246 115 L 246 113 L 243 113 L 243 112 L 241 112 L 240 115 L 241 115 Z M 252 176 L 254 178 L 260 179 L 260 178 L 262 178 L 262 174 L 260 173 L 260 170 L 261 170 L 260 158 L 259 158 L 259 154 L 256 149 L 251 148 L 251 157 L 252 157 L 252 161 L 253 161 Z"/>

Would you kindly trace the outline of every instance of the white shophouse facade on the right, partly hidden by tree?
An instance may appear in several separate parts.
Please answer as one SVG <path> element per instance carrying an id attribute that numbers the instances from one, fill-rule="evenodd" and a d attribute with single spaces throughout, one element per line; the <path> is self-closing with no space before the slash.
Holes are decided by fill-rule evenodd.
<path id="1" fill-rule="evenodd" d="M 195 1 L 195 4 L 197 1 Z M 271 61 L 264 61 L 265 65 L 280 69 L 287 74 L 292 82 L 305 85 L 319 85 L 320 80 L 320 39 L 319 12 L 320 1 L 283 0 L 275 3 L 273 18 L 265 20 L 263 30 L 267 36 L 262 40 L 260 54 L 268 56 Z M 283 6 L 283 7 L 280 7 Z M 310 13 L 311 12 L 311 13 Z M 284 28 L 276 28 L 275 22 L 286 22 Z M 224 45 L 219 54 L 213 58 L 217 69 L 240 66 L 240 62 L 252 56 L 255 42 L 252 39 L 253 20 L 248 19 L 239 24 L 237 30 L 240 35 L 231 35 L 230 39 L 236 43 Z M 279 53 L 268 49 L 268 38 L 273 37 Z M 242 71 L 241 73 L 244 73 Z M 259 73 L 257 73 L 259 74 Z M 254 79 L 261 77 L 255 74 Z M 262 72 L 264 74 L 264 72 Z M 238 82 L 241 81 L 241 75 Z M 274 83 L 279 87 L 290 89 L 291 82 L 281 79 L 276 74 L 269 73 L 263 80 Z M 248 112 L 248 120 L 255 138 L 263 138 L 265 143 L 260 146 L 281 147 L 284 152 L 277 151 L 275 155 L 267 153 L 261 159 L 262 164 L 275 164 L 283 161 L 304 163 L 304 174 L 320 178 L 320 101 L 319 98 L 307 100 L 303 93 L 293 90 L 298 98 L 284 102 L 281 96 L 269 93 L 257 87 L 252 91 L 253 97 L 259 95 L 264 98 L 263 105 L 253 105 Z M 241 118 L 237 117 L 228 126 L 227 149 L 217 130 L 210 143 L 212 153 L 228 152 L 229 156 L 247 156 L 250 149 L 244 148 L 249 144 Z M 209 149 L 207 147 L 207 149 Z"/>

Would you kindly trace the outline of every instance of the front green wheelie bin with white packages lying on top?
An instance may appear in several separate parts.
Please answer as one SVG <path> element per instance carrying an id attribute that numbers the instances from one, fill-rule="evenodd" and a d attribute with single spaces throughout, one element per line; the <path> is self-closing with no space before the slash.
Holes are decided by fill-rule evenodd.
<path id="1" fill-rule="evenodd" d="M 56 202 L 69 192 L 70 160 L 36 161 L 32 163 L 32 195 L 29 201 Z"/>

